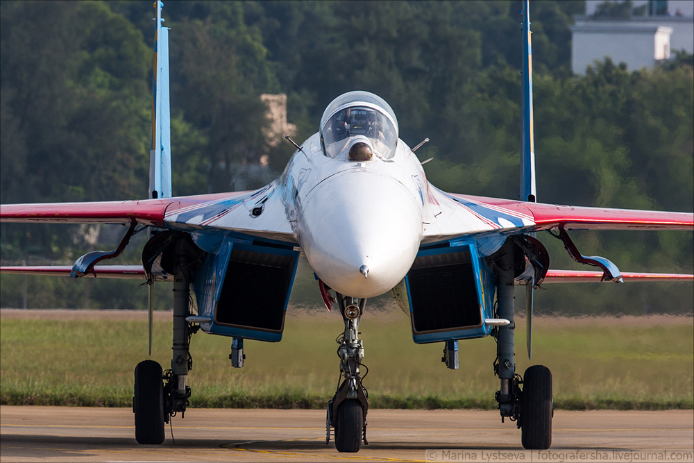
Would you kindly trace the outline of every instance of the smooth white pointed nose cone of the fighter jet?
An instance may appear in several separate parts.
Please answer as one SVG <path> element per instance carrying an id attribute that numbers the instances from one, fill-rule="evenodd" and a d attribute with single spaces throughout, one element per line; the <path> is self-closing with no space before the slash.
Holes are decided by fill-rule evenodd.
<path id="1" fill-rule="evenodd" d="M 421 234 L 420 203 L 382 174 L 337 174 L 303 203 L 306 258 L 326 285 L 346 296 L 378 296 L 398 284 L 412 267 Z"/>

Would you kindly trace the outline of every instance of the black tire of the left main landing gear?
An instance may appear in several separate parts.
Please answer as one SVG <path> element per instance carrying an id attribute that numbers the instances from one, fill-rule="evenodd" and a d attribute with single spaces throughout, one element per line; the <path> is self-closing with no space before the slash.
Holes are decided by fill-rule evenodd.
<path id="1" fill-rule="evenodd" d="M 135 367 L 135 439 L 138 444 L 161 444 L 164 441 L 164 383 L 162 367 L 144 360 Z"/>

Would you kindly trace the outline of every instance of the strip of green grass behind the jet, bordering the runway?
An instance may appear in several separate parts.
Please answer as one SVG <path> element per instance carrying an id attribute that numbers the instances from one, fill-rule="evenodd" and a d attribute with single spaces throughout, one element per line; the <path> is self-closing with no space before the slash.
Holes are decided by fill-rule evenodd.
<path id="1" fill-rule="evenodd" d="M 555 405 L 659 410 L 694 408 L 694 330 L 688 323 L 638 321 L 601 326 L 536 321 L 533 360 L 518 321 L 518 373 L 545 364 L 554 378 Z M 339 314 L 311 316 L 294 309 L 276 344 L 246 341 L 246 364 L 232 369 L 230 338 L 192 339 L 193 407 L 322 408 L 335 392 Z M 496 408 L 494 339 L 460 343 L 460 369 L 441 363 L 442 344 L 412 342 L 402 313 L 367 315 L 360 326 L 364 385 L 373 407 Z M 135 364 L 147 357 L 141 321 L 3 319 L 0 324 L 0 403 L 128 407 Z M 153 360 L 170 364 L 171 323 L 156 322 Z"/>

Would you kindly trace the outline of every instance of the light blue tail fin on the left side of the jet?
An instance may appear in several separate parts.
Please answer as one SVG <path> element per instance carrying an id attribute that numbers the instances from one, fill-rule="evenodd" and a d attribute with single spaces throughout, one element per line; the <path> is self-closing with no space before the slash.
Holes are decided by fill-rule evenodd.
<path id="1" fill-rule="evenodd" d="M 169 106 L 169 28 L 162 26 L 162 6 L 157 8 L 154 41 L 152 143 L 149 151 L 149 197 L 171 198 L 171 110 Z"/>

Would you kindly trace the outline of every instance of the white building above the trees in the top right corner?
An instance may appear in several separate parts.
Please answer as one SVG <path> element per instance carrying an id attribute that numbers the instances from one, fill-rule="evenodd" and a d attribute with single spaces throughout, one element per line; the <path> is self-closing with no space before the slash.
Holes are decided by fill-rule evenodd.
<path id="1" fill-rule="evenodd" d="M 586 0 L 586 14 L 574 19 L 571 68 L 575 74 L 584 74 L 587 66 L 607 56 L 635 70 L 670 59 L 670 51 L 694 53 L 691 0 Z"/>

